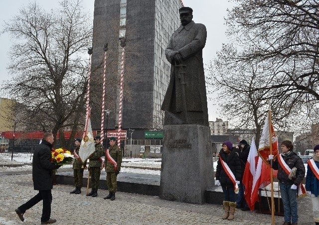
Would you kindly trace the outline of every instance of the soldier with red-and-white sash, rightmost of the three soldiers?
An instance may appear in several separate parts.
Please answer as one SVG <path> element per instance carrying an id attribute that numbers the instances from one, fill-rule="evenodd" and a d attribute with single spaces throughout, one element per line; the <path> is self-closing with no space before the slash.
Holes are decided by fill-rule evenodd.
<path id="1" fill-rule="evenodd" d="M 121 163 L 122 163 L 122 151 L 121 149 L 115 144 L 116 138 L 111 137 L 110 138 L 110 148 L 109 148 L 109 154 L 113 158 L 113 160 L 116 162 L 116 168 L 115 165 L 112 164 L 110 159 L 107 157 L 107 163 L 105 166 L 106 171 L 106 184 L 109 189 L 109 195 L 105 197 L 104 199 L 111 199 L 111 201 L 115 200 L 115 193 L 117 192 L 118 186 L 117 186 L 117 175 L 120 173 L 121 170 Z"/>

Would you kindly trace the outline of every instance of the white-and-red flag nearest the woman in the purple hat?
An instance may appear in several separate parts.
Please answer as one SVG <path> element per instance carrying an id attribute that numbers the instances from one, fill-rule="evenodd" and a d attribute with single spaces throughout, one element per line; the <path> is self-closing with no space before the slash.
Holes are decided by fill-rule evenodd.
<path id="1" fill-rule="evenodd" d="M 255 145 L 254 139 L 251 141 L 251 147 L 245 167 L 245 172 L 243 176 L 243 185 L 245 186 L 245 200 L 248 204 L 250 210 L 254 210 L 255 203 L 252 204 L 251 197 L 252 197 L 252 187 L 253 181 L 256 174 L 256 165 L 258 160 L 257 149 Z"/>

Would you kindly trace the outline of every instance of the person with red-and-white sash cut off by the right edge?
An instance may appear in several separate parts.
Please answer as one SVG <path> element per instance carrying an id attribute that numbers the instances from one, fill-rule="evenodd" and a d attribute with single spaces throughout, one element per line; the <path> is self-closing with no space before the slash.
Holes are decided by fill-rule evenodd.
<path id="1" fill-rule="evenodd" d="M 313 155 L 314 164 L 312 164 L 314 169 L 316 167 L 319 170 L 319 145 L 316 145 L 314 148 L 314 155 Z M 317 173 L 317 171 L 315 171 Z M 311 201 L 313 203 L 313 213 L 314 213 L 314 221 L 316 225 L 319 225 L 319 179 L 318 173 L 317 176 L 315 175 L 314 171 L 308 164 L 307 166 L 307 176 L 306 176 L 306 190 L 307 193 L 310 195 Z"/>

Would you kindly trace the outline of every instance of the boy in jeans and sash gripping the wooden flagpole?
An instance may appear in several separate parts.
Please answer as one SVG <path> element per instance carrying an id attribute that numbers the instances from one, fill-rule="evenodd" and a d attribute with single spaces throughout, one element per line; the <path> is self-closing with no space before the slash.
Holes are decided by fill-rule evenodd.
<path id="1" fill-rule="evenodd" d="M 277 178 L 284 205 L 285 222 L 283 225 L 297 225 L 298 223 L 297 190 L 306 174 L 303 160 L 293 152 L 293 148 L 291 141 L 286 140 L 281 143 L 281 156 L 287 166 L 292 169 L 289 175 L 278 162 L 279 155 L 273 161 L 273 169 L 278 170 Z M 273 156 L 270 155 L 268 158 L 271 160 Z"/>

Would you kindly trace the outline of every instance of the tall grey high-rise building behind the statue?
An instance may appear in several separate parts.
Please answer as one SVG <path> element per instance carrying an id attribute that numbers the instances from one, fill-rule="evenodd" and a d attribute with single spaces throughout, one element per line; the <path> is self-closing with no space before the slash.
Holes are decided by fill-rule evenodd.
<path id="1" fill-rule="evenodd" d="M 95 0 L 92 54 L 92 127 L 101 127 L 103 46 L 108 43 L 105 109 L 118 126 L 121 39 L 125 38 L 123 129 L 160 128 L 170 73 L 165 48 L 179 27 L 181 0 Z M 106 124 L 106 123 L 105 123 Z M 104 128 L 106 126 L 104 125 Z"/>

